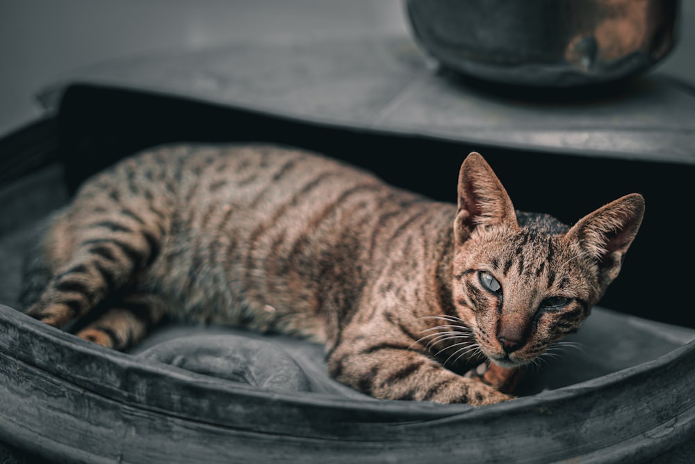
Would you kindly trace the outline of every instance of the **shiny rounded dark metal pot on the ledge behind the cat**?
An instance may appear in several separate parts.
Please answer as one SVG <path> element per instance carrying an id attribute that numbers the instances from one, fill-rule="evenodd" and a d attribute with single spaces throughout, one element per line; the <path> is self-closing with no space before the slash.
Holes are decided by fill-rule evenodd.
<path id="1" fill-rule="evenodd" d="M 644 72 L 676 44 L 678 0 L 406 0 L 443 66 L 522 86 L 582 86 Z"/>

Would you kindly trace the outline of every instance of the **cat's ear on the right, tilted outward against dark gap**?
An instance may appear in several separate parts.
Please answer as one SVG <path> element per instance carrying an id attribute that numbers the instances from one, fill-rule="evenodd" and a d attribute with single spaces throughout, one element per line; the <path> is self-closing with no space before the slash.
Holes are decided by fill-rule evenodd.
<path id="1" fill-rule="evenodd" d="M 604 290 L 618 276 L 643 216 L 644 198 L 632 193 L 587 214 L 567 232 L 566 237 L 579 241 L 600 263 L 600 285 Z"/>

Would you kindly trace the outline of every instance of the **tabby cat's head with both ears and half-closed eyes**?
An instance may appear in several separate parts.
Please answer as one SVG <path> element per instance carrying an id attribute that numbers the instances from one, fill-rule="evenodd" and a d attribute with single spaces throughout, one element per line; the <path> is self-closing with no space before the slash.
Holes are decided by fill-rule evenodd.
<path id="1" fill-rule="evenodd" d="M 644 214 L 633 193 L 572 227 L 517 218 L 477 153 L 461 166 L 458 192 L 453 298 L 482 352 L 502 367 L 531 362 L 579 328 L 618 275 Z"/>

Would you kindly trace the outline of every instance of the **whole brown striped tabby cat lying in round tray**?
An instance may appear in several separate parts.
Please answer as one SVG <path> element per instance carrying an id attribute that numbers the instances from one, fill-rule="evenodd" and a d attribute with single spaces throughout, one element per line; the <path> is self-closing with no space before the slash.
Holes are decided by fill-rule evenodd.
<path id="1" fill-rule="evenodd" d="M 165 316 L 245 326 L 325 344 L 329 374 L 376 398 L 499 403 L 616 278 L 644 199 L 569 227 L 515 211 L 475 152 L 457 197 L 290 147 L 156 147 L 52 218 L 22 301 L 56 327 L 101 308 L 76 335 L 113 349 Z"/>

